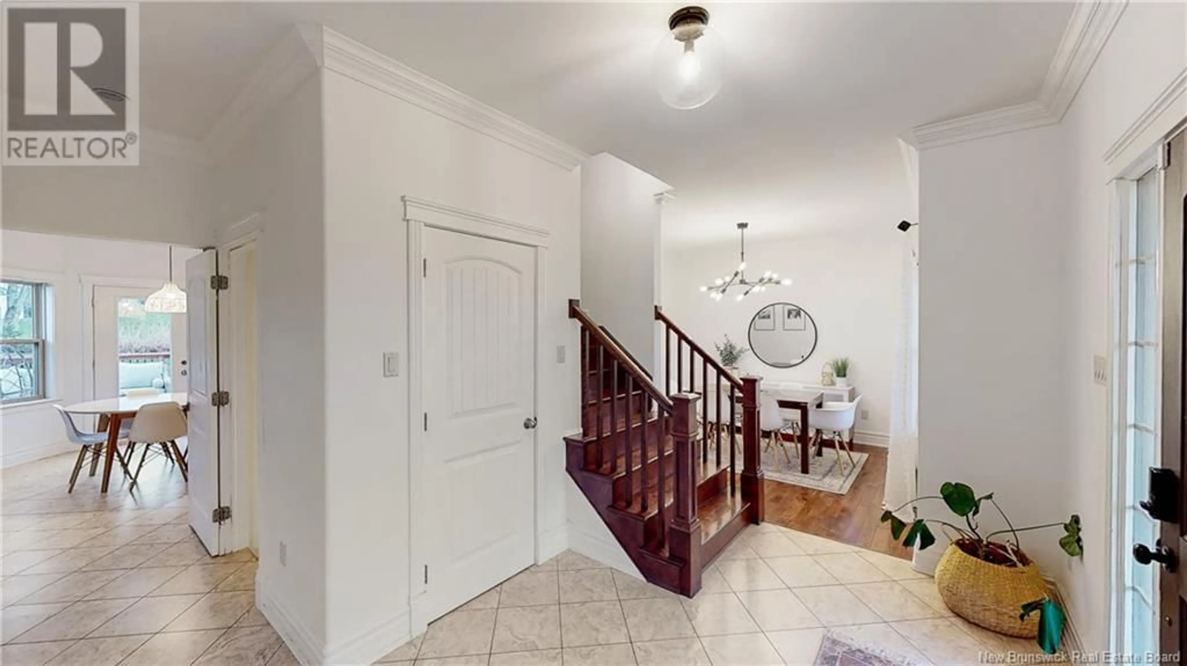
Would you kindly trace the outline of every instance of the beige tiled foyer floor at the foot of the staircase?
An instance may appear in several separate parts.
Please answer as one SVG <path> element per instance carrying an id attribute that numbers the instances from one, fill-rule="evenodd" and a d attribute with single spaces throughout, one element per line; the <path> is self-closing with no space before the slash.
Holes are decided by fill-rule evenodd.
<path id="1" fill-rule="evenodd" d="M 932 579 L 902 559 L 764 524 L 722 553 L 693 600 L 566 552 L 446 615 L 381 661 L 810 665 L 826 632 L 921 666 L 1037 652 L 1034 641 L 953 617 Z"/>

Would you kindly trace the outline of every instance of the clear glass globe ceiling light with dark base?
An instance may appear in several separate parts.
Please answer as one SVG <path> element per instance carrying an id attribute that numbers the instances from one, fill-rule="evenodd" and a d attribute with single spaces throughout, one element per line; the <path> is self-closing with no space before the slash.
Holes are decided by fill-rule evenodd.
<path id="1" fill-rule="evenodd" d="M 722 89 L 718 39 L 703 7 L 677 9 L 668 18 L 668 31 L 652 55 L 655 89 L 665 104 L 694 109 Z"/>

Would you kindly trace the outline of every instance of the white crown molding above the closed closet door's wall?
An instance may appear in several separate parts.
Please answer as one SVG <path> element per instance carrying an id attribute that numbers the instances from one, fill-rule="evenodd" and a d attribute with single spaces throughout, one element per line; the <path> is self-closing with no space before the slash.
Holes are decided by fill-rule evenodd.
<path id="1" fill-rule="evenodd" d="M 323 66 L 564 169 L 586 153 L 326 27 Z"/>

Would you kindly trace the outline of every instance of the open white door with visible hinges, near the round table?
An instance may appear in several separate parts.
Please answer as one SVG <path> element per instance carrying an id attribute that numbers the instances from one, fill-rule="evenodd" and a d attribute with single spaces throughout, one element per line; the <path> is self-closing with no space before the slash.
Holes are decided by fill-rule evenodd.
<path id="1" fill-rule="evenodd" d="M 218 292 L 210 288 L 217 274 L 215 250 L 185 262 L 186 330 L 189 334 L 190 527 L 210 554 L 221 554 L 220 525 L 212 513 L 220 502 L 218 410 L 210 397 L 218 391 Z"/>

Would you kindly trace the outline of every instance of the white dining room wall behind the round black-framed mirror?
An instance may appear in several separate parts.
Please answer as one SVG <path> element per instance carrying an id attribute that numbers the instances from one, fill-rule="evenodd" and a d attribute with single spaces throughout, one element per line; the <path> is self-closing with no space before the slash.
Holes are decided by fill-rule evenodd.
<path id="1" fill-rule="evenodd" d="M 862 393 L 858 439 L 886 444 L 890 431 L 890 395 L 901 306 L 902 253 L 906 236 L 895 230 L 895 217 L 869 234 L 805 236 L 747 245 L 747 266 L 756 275 L 774 271 L 792 278 L 788 286 L 773 286 L 742 302 L 732 296 L 713 300 L 698 291 L 738 261 L 736 242 L 687 248 L 668 245 L 664 260 L 664 311 L 698 344 L 713 353 L 713 344 L 730 340 L 750 347 L 748 331 L 755 312 L 770 303 L 794 303 L 815 321 L 815 351 L 794 368 L 773 368 L 748 353 L 743 372 L 772 381 L 819 383 L 829 360 L 849 356 L 850 381 Z"/>

